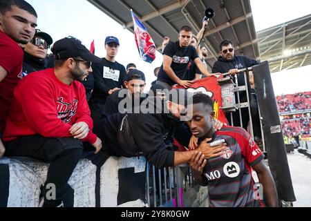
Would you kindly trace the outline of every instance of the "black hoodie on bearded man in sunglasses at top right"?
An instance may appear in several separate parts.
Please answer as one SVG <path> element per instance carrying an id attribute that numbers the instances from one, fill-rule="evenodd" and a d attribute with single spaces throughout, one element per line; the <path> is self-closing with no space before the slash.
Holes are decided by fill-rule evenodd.
<path id="1" fill-rule="evenodd" d="M 257 65 L 258 62 L 252 58 L 244 55 L 236 55 L 231 61 L 227 61 L 223 56 L 218 57 L 218 61 L 214 63 L 212 73 L 227 73 L 229 70 L 238 68 L 249 68 L 251 66 Z M 245 85 L 244 75 L 238 75 L 238 86 Z"/>

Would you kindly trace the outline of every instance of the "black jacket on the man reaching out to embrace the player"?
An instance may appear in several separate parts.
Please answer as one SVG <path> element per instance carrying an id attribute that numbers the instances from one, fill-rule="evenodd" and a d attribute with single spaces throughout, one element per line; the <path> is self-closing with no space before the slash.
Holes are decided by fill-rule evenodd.
<path id="1" fill-rule="evenodd" d="M 117 157 L 133 157 L 124 152 L 117 142 L 117 132 L 124 115 L 117 113 L 102 119 L 93 132 L 103 141 L 103 149 Z M 128 114 L 133 139 L 144 157 L 157 168 L 173 166 L 175 153 L 167 150 L 166 140 L 173 136 L 188 146 L 191 137 L 189 127 L 166 113 Z"/>

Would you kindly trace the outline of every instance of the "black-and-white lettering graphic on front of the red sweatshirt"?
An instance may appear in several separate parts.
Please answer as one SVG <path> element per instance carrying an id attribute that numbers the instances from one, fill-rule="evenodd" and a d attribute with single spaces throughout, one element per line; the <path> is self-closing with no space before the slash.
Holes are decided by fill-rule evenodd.
<path id="1" fill-rule="evenodd" d="M 73 99 L 73 102 L 70 104 L 69 102 L 64 102 L 64 97 L 57 98 L 57 114 L 58 118 L 62 120 L 62 122 L 68 124 L 70 119 L 75 116 L 77 112 L 77 99 Z"/>

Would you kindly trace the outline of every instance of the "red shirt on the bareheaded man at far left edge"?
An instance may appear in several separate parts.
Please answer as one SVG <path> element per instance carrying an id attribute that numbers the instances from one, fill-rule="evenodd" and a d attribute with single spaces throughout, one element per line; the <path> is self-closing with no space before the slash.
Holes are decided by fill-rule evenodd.
<path id="1" fill-rule="evenodd" d="M 14 88 L 21 79 L 23 50 L 8 35 L 0 30 L 0 66 L 8 75 L 0 82 L 0 133 L 6 128 Z"/>

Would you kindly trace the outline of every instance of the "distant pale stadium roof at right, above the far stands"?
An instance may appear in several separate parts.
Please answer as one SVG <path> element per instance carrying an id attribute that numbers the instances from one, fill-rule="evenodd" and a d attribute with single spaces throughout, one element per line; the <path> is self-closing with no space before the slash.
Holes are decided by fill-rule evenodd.
<path id="1" fill-rule="evenodd" d="M 257 38 L 272 72 L 311 64 L 311 14 L 258 31 Z"/>

